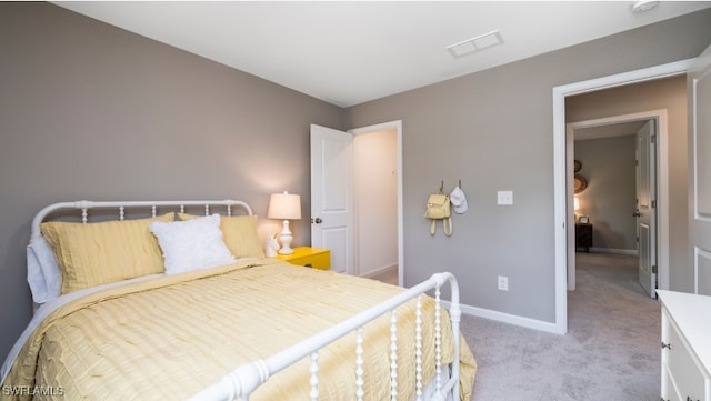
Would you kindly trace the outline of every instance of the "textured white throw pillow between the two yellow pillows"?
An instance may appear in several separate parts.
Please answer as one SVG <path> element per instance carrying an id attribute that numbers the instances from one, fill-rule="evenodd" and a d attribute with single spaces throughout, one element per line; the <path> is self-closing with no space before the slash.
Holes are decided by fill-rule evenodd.
<path id="1" fill-rule="evenodd" d="M 208 269 L 234 261 L 222 240 L 220 214 L 150 225 L 163 251 L 166 274 Z"/>

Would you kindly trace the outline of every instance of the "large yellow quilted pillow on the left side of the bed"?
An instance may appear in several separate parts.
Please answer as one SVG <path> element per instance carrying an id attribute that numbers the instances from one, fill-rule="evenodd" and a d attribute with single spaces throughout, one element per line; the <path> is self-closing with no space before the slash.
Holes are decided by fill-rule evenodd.
<path id="1" fill-rule="evenodd" d="M 173 213 L 168 213 L 151 219 L 86 224 L 42 223 L 42 234 L 52 245 L 62 273 L 62 293 L 162 273 L 163 257 L 148 228 L 153 221 L 173 220 Z"/>

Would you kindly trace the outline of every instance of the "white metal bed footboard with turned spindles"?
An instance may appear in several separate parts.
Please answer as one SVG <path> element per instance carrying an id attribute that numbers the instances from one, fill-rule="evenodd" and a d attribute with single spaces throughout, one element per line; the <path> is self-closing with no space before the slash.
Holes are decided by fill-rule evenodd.
<path id="1" fill-rule="evenodd" d="M 451 300 L 450 300 L 450 321 L 452 324 L 452 338 L 453 338 L 453 352 L 454 358 L 452 364 L 450 367 L 451 374 L 447 377 L 442 374 L 442 361 L 441 361 L 441 300 L 440 300 L 440 288 L 449 282 L 451 288 Z M 354 367 L 356 367 L 356 387 L 358 394 L 358 400 L 363 399 L 363 362 L 362 362 L 362 353 L 363 353 L 363 325 L 383 314 L 390 313 L 391 319 L 391 329 L 390 329 L 390 341 L 391 341 L 391 371 L 397 370 L 397 348 L 398 348 L 398 333 L 397 333 L 397 321 L 398 321 L 398 307 L 403 303 L 417 299 L 417 321 L 415 321 L 415 343 L 417 343 L 417 365 L 415 372 L 413 374 L 417 375 L 417 399 L 422 399 L 423 383 L 421 378 L 422 372 L 422 358 L 420 350 L 422 349 L 422 335 L 421 335 L 421 299 L 422 295 L 434 289 L 434 302 L 435 302 L 435 311 L 434 311 L 434 333 L 435 338 L 433 339 L 435 344 L 435 375 L 434 375 L 434 395 L 433 400 L 459 400 L 459 375 L 460 375 L 460 337 L 459 337 L 459 325 L 461 321 L 461 309 L 459 304 L 459 287 L 457 284 L 457 280 L 454 275 L 449 272 L 435 273 L 429 280 L 423 281 L 422 283 L 400 293 L 397 297 L 389 299 L 382 303 L 379 303 L 350 319 L 329 328 L 309 339 L 306 339 L 293 347 L 286 349 L 272 357 L 267 359 L 260 359 L 250 363 L 244 363 L 232 372 L 224 375 L 219 382 L 213 385 L 204 389 L 200 393 L 193 395 L 191 400 L 200 400 L 200 401 L 217 401 L 224 400 L 231 401 L 236 399 L 249 400 L 250 394 L 262 383 L 264 383 L 271 375 L 281 371 L 282 369 L 296 363 L 297 361 L 302 360 L 306 357 L 310 357 L 311 359 L 311 400 L 319 399 L 319 350 L 324 348 L 326 345 L 334 342 L 336 340 L 356 332 L 357 340 L 356 344 L 353 344 L 354 351 Z M 445 379 L 442 379 L 447 377 Z M 397 383 L 397 373 L 391 374 L 390 378 L 390 388 L 392 399 L 397 399 L 398 393 L 398 383 Z"/>

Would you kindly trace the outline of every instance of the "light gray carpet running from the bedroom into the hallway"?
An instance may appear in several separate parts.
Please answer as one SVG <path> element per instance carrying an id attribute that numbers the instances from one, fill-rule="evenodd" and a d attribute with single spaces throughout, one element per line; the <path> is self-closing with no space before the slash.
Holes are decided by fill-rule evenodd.
<path id="1" fill-rule="evenodd" d="M 660 305 L 637 282 L 637 258 L 578 254 L 565 335 L 464 315 L 479 371 L 475 401 L 657 401 Z"/>

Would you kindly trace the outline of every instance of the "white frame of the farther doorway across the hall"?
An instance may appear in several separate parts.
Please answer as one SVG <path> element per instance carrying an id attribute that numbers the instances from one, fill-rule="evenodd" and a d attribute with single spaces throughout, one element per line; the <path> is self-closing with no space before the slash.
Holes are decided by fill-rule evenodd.
<path id="1" fill-rule="evenodd" d="M 574 156 L 575 130 L 632 121 L 655 120 L 657 133 L 657 265 L 660 289 L 669 288 L 669 128 L 667 110 L 649 110 L 631 114 L 610 116 L 592 120 L 573 121 L 565 124 L 565 154 L 568 168 Z M 568 178 L 568 188 L 572 189 L 572 177 Z M 574 193 L 568 190 L 568 210 L 572 210 Z M 568 227 L 574 227 L 572 214 L 568 215 Z M 575 290 L 575 237 L 568 231 L 568 291 Z"/>

